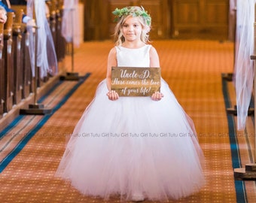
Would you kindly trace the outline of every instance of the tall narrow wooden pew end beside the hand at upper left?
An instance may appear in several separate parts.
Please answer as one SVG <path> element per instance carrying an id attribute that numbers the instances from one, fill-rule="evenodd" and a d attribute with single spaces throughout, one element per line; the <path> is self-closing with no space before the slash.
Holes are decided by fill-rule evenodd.
<path id="1" fill-rule="evenodd" d="M 7 13 L 8 20 L 4 26 L 4 112 L 8 112 L 13 107 L 14 95 L 14 55 L 12 53 L 12 26 L 14 13 Z"/>

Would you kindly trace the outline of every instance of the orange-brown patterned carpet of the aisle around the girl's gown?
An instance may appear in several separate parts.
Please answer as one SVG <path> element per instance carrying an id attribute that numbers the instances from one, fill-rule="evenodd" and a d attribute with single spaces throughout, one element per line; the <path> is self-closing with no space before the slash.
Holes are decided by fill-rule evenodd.
<path id="1" fill-rule="evenodd" d="M 197 194 L 169 202 L 238 202 L 221 83 L 222 73 L 233 72 L 233 43 L 191 40 L 153 41 L 153 45 L 160 56 L 162 77 L 194 120 L 206 156 L 206 186 Z M 90 77 L 0 173 L 1 202 L 119 202 L 118 197 L 110 201 L 84 197 L 54 177 L 69 135 L 105 78 L 111 47 L 111 41 L 90 41 L 75 49 L 75 72 L 90 72 Z M 71 56 L 64 64 L 71 71 Z M 251 192 L 248 202 L 256 201 L 254 183 L 247 184 L 246 190 Z"/>

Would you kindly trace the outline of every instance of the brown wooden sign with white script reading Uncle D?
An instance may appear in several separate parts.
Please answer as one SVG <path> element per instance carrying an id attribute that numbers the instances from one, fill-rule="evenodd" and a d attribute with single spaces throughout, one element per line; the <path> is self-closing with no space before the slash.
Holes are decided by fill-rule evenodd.
<path id="1" fill-rule="evenodd" d="M 160 92 L 160 68 L 112 67 L 111 90 L 120 96 L 151 96 Z"/>

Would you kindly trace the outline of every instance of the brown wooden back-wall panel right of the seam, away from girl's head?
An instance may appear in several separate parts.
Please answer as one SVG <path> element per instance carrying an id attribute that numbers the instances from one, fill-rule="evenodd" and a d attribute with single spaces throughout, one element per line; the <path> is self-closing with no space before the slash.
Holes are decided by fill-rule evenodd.
<path id="1" fill-rule="evenodd" d="M 172 0 L 172 36 L 226 39 L 228 0 Z"/>

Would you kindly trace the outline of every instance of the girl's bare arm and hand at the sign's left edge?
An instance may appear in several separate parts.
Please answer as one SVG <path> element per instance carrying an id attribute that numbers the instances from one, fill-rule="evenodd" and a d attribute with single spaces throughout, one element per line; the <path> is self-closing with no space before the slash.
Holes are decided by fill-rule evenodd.
<path id="1" fill-rule="evenodd" d="M 112 66 L 117 66 L 117 51 L 115 48 L 112 48 L 108 53 L 108 67 L 107 67 L 107 86 L 108 86 L 108 93 L 107 96 L 110 100 L 117 100 L 119 95 L 117 92 L 111 90 L 111 68 Z"/>

